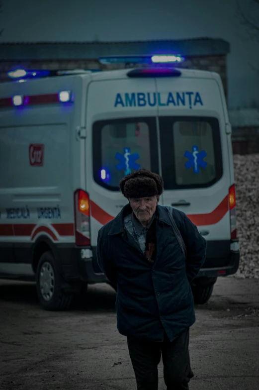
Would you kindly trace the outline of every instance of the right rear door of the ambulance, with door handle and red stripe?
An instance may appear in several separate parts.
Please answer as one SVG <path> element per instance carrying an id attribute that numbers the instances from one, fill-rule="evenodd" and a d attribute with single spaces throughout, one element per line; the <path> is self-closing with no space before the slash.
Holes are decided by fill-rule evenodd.
<path id="1" fill-rule="evenodd" d="M 157 79 L 164 205 L 207 240 L 230 239 L 230 169 L 220 90 L 210 78 Z"/>

